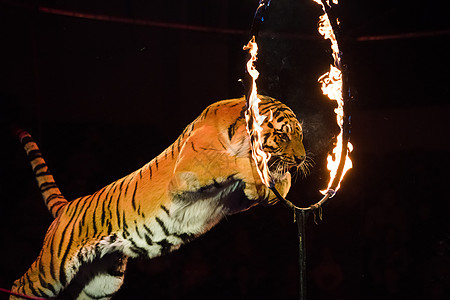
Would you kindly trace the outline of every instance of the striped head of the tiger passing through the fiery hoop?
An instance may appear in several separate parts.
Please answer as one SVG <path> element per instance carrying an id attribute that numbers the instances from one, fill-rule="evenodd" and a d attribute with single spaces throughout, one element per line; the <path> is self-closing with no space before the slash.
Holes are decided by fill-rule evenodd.
<path id="1" fill-rule="evenodd" d="M 303 146 L 302 125 L 294 112 L 283 103 L 259 96 L 261 115 L 267 116 L 262 127 L 263 149 L 271 154 L 268 166 L 272 178 L 277 181 L 287 171 L 295 168 L 307 172 L 308 164 Z"/>

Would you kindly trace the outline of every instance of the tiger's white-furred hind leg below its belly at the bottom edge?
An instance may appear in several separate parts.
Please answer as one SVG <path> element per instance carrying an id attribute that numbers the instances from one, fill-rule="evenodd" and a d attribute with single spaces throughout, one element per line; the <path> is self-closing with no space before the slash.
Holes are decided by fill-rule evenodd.
<path id="1" fill-rule="evenodd" d="M 115 252 L 83 265 L 58 299 L 110 299 L 122 286 L 127 260 Z"/>

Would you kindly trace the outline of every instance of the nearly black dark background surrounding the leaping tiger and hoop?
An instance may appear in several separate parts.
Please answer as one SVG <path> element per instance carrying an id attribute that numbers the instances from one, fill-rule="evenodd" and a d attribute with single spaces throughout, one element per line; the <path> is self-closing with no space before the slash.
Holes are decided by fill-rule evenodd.
<path id="1" fill-rule="evenodd" d="M 19 121 L 34 135 L 66 197 L 93 193 L 163 151 L 210 103 L 243 94 L 242 46 L 257 2 L 0 1 L 0 287 L 34 261 L 51 222 L 5 125 Z M 307 222 L 309 299 L 450 297 L 445 2 L 342 0 L 354 169 L 323 221 Z M 311 0 L 272 1 L 257 65 L 260 93 L 304 121 L 315 166 L 288 198 L 305 206 L 326 186 L 337 133 L 334 105 L 317 84 L 331 63 L 316 31 L 320 14 Z M 254 208 L 177 252 L 132 260 L 114 299 L 297 299 L 297 247 L 290 212 Z"/>

